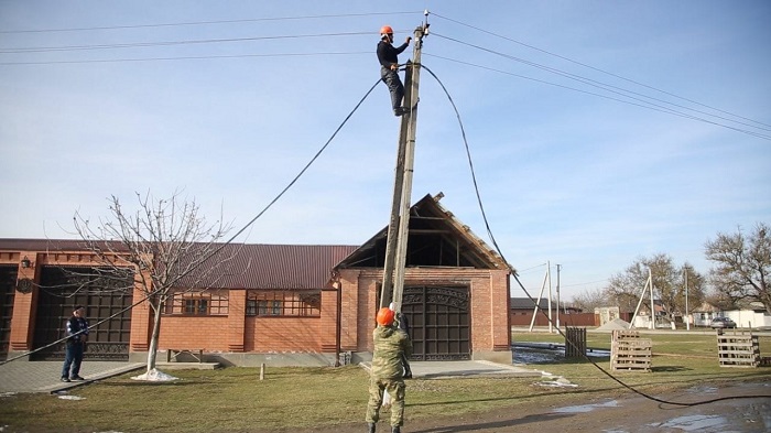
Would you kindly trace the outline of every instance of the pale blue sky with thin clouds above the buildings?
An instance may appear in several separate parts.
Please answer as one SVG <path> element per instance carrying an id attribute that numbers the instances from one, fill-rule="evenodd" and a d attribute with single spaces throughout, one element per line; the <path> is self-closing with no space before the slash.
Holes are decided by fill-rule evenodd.
<path id="1" fill-rule="evenodd" d="M 707 272 L 705 241 L 771 221 L 768 1 L 0 1 L 0 237 L 72 238 L 110 195 L 175 190 L 240 228 L 379 79 L 380 26 L 401 41 L 426 8 L 423 63 L 532 294 L 547 261 L 564 299 L 659 252 Z M 239 240 L 369 239 L 398 128 L 380 84 Z M 413 201 L 438 192 L 489 242 L 424 73 Z"/>

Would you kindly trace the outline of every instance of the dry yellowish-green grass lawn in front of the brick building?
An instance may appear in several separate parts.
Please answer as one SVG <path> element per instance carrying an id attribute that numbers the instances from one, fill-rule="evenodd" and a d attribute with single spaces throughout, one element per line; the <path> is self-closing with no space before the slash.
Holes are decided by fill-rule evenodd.
<path id="1" fill-rule="evenodd" d="M 564 343 L 558 335 L 517 333 L 515 342 Z M 685 389 L 701 383 L 769 380 L 771 369 L 721 368 L 714 335 L 652 334 L 652 372 L 618 372 L 623 382 L 642 392 Z M 589 333 L 587 345 L 610 348 L 609 334 Z M 771 356 L 771 337 L 761 338 L 761 355 Z M 609 370 L 607 358 L 598 365 Z M 409 380 L 408 420 L 463 415 L 512 408 L 522 402 L 543 407 L 584 403 L 628 394 L 586 360 L 532 366 L 564 376 L 577 388 L 539 386 L 539 378 L 457 378 Z M 72 391 L 83 400 L 48 394 L 0 398 L 0 427 L 6 431 L 57 432 L 200 432 L 265 431 L 363 425 L 367 371 L 341 368 L 268 368 L 260 380 L 257 368 L 173 370 L 180 380 L 138 382 L 124 375 Z"/>

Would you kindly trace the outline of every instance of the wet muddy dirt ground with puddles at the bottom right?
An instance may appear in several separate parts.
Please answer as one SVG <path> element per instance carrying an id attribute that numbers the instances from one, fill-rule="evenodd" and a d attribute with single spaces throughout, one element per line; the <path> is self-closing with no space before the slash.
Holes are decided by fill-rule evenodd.
<path id="1" fill-rule="evenodd" d="M 756 396 L 753 398 L 746 398 Z M 540 432 L 746 432 L 771 431 L 771 378 L 749 383 L 701 385 L 685 391 L 655 396 L 665 401 L 697 403 L 729 398 L 692 407 L 664 404 L 640 397 L 620 396 L 586 401 L 580 392 L 558 407 L 521 403 L 511 408 L 466 416 L 448 413 L 442 419 L 408 420 L 404 433 L 461 433 L 461 432 L 520 432 L 537 429 Z M 737 397 L 739 397 L 737 399 Z M 363 408 L 362 408 L 363 419 Z M 384 416 L 386 419 L 388 416 Z M 523 430 L 524 429 L 524 430 Z M 317 433 L 365 432 L 362 421 L 354 425 L 307 430 Z M 390 432 L 387 422 L 378 424 L 378 432 Z"/>

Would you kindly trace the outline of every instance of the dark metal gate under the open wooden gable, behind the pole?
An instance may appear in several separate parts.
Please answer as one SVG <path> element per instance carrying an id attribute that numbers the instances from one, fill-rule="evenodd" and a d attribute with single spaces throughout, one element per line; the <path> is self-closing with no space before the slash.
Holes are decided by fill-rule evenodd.
<path id="1" fill-rule="evenodd" d="M 410 325 L 413 360 L 471 358 L 467 286 L 409 286 L 402 314 Z"/>

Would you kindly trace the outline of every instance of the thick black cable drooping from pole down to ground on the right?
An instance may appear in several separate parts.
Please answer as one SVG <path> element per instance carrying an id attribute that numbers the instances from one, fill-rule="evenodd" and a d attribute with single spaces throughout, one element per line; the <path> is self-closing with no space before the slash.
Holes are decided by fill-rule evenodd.
<path id="1" fill-rule="evenodd" d="M 458 111 L 458 108 L 457 108 L 457 106 L 455 105 L 455 101 L 453 100 L 453 97 L 452 97 L 452 96 L 449 95 L 449 93 L 447 91 L 447 88 L 444 86 L 444 84 L 442 83 L 442 80 L 436 76 L 436 74 L 434 74 L 431 69 L 428 69 L 424 64 L 420 64 L 420 65 L 417 65 L 417 67 L 422 67 L 422 68 L 426 69 L 426 71 L 428 72 L 428 74 L 431 74 L 431 75 L 434 77 L 434 79 L 436 79 L 436 82 L 439 84 L 439 86 L 441 86 L 442 89 L 444 90 L 445 95 L 447 96 L 447 99 L 449 99 L 449 102 L 450 102 L 450 105 L 453 106 L 453 109 L 455 110 L 455 115 L 456 115 L 456 117 L 457 117 L 457 119 L 458 119 L 458 126 L 460 127 L 460 134 L 461 134 L 461 137 L 463 137 L 464 145 L 465 145 L 465 148 L 466 148 L 466 155 L 468 156 L 468 165 L 469 165 L 469 169 L 470 169 L 470 171 L 471 171 L 471 178 L 473 178 L 473 181 L 474 181 L 474 190 L 475 190 L 476 195 L 477 195 L 477 202 L 479 203 L 479 209 L 480 209 L 480 212 L 481 212 L 481 216 L 482 216 L 482 219 L 484 219 L 484 221 L 485 221 L 485 227 L 486 227 L 486 229 L 487 229 L 487 234 L 488 234 L 488 236 L 490 237 L 490 241 L 491 241 L 492 245 L 496 247 L 496 251 L 498 252 L 498 255 L 501 257 L 501 259 L 503 260 L 503 262 L 508 263 L 508 261 L 507 261 L 506 258 L 503 257 L 503 252 L 502 252 L 501 249 L 498 247 L 498 242 L 496 241 L 496 238 L 495 238 L 495 236 L 493 236 L 493 234 L 492 234 L 492 230 L 490 229 L 490 224 L 489 224 L 489 221 L 488 221 L 488 219 L 487 219 L 487 214 L 485 213 L 485 206 L 482 205 L 481 195 L 480 195 L 480 193 L 479 193 L 479 186 L 478 186 L 478 184 L 477 184 L 477 176 L 476 176 L 476 174 L 475 174 L 475 171 L 474 171 L 474 163 L 473 163 L 473 161 L 471 161 L 471 153 L 470 153 L 470 150 L 469 150 L 468 140 L 467 140 L 467 138 L 466 138 L 466 131 L 465 131 L 465 129 L 464 129 L 463 121 L 461 121 L 461 119 L 460 119 L 460 113 L 459 113 L 459 111 Z M 518 277 L 518 274 L 517 274 L 517 270 L 515 270 L 513 267 L 511 267 L 511 264 L 509 264 L 509 269 L 510 269 L 510 271 L 511 271 L 512 277 L 514 278 L 514 280 L 517 280 L 517 283 L 520 285 L 520 288 L 522 289 L 522 291 L 524 292 L 524 294 L 530 299 L 530 301 L 533 303 L 533 305 L 535 305 L 535 307 L 536 307 L 541 313 L 543 313 L 544 316 L 546 316 L 546 320 L 547 320 L 552 325 L 554 325 L 554 322 L 552 321 L 552 318 L 549 317 L 549 315 L 547 315 L 547 314 L 540 307 L 540 305 L 535 302 L 535 300 L 533 299 L 533 296 L 530 295 L 530 292 L 528 292 L 528 290 L 524 288 L 524 285 L 522 284 L 522 282 L 520 281 L 520 279 L 519 279 L 519 277 Z M 558 314 L 558 312 L 557 312 L 557 314 Z M 576 345 L 572 339 L 569 339 L 569 338 L 562 332 L 562 329 L 560 329 L 558 327 L 555 327 L 555 329 L 557 331 L 557 333 L 560 333 L 560 335 L 562 335 L 562 336 L 565 338 L 565 342 L 567 342 L 567 344 L 569 344 L 569 345 L 573 346 L 574 348 L 578 349 L 578 351 L 582 351 L 582 354 L 583 354 L 583 350 L 580 350 L 580 348 L 578 347 L 578 345 Z M 613 380 L 615 382 L 619 383 L 619 385 L 622 386 L 623 388 L 626 388 L 626 389 L 628 389 L 628 390 L 630 390 L 630 391 L 632 391 L 632 392 L 634 392 L 634 393 L 637 393 L 637 394 L 639 394 L 639 396 L 641 396 L 641 397 L 643 397 L 643 398 L 647 398 L 647 399 L 649 399 L 649 400 L 652 400 L 652 401 L 655 401 L 655 402 L 662 403 L 662 404 L 681 405 L 681 407 L 695 407 L 695 405 L 701 405 L 701 404 L 714 403 L 714 402 L 721 401 L 721 400 L 731 400 L 731 399 L 753 399 L 753 398 L 771 398 L 771 394 L 769 394 L 769 396 L 721 397 L 721 398 L 710 399 L 710 400 L 705 400 L 705 401 L 699 401 L 699 402 L 695 402 L 695 403 L 680 403 L 680 402 L 674 402 L 674 401 L 667 401 L 667 400 L 659 399 L 659 398 L 653 397 L 653 396 L 649 396 L 649 394 L 647 394 L 647 393 L 644 393 L 644 392 L 642 392 L 642 391 L 640 391 L 640 390 L 638 390 L 638 389 L 636 389 L 636 388 L 633 388 L 633 387 L 631 387 L 631 386 L 625 383 L 623 381 L 621 381 L 620 379 L 618 379 L 617 377 L 615 377 L 615 376 L 611 375 L 610 372 L 608 372 L 608 371 L 606 371 L 605 369 L 602 369 L 597 362 L 594 361 L 594 359 L 591 359 L 591 358 L 590 358 L 589 356 L 587 356 L 586 354 L 583 354 L 583 356 L 584 356 L 584 358 L 586 358 L 589 362 L 591 362 L 593 366 L 595 366 L 598 370 L 600 370 L 605 376 L 607 376 L 608 378 L 610 378 L 610 379 Z"/>

